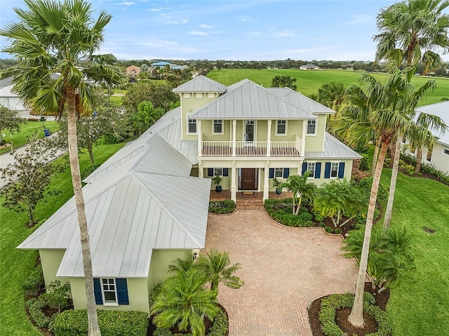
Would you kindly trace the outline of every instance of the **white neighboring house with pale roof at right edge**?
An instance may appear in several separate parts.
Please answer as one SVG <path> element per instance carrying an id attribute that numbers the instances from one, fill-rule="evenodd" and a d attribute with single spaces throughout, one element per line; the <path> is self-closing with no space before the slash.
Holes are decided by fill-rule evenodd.
<path id="1" fill-rule="evenodd" d="M 443 119 L 446 125 L 449 125 L 449 100 L 417 107 L 416 112 L 416 118 L 421 113 L 431 114 L 439 116 Z M 425 150 L 423 151 L 422 161 L 423 163 L 432 164 L 436 169 L 443 170 L 445 173 L 449 174 L 449 130 L 445 133 L 432 131 L 432 134 L 438 137 L 438 140 L 436 141 L 432 152 L 427 153 Z"/>

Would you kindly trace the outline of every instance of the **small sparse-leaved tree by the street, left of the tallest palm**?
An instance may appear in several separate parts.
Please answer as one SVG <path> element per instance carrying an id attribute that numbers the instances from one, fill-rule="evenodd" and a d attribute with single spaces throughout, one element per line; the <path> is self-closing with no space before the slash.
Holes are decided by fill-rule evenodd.
<path id="1" fill-rule="evenodd" d="M 47 163 L 55 151 L 43 145 L 44 141 L 38 140 L 37 134 L 30 137 L 25 151 L 15 152 L 14 163 L 0 170 L 7 183 L 2 191 L 5 197 L 3 205 L 18 213 L 26 210 L 28 227 L 34 226 L 37 204 L 46 195 L 57 193 L 48 189 L 51 176 L 65 168 L 55 163 Z"/>

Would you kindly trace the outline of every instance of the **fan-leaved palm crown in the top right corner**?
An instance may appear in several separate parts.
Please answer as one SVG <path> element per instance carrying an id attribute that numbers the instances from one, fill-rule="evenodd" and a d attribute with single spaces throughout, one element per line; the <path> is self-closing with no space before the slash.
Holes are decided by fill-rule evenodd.
<path id="1" fill-rule="evenodd" d="M 441 63 L 438 51 L 449 51 L 449 15 L 447 0 L 407 0 L 382 8 L 377 15 L 380 34 L 377 41 L 376 60 L 403 61 L 407 66 L 422 61 L 428 69 Z"/>

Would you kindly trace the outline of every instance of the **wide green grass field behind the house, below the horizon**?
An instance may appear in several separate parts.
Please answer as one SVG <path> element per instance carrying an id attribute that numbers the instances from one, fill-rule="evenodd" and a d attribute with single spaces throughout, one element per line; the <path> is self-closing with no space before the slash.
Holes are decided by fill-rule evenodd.
<path id="1" fill-rule="evenodd" d="M 208 77 L 225 85 L 230 85 L 247 78 L 262 86 L 271 87 L 272 78 L 274 76 L 289 75 L 297 79 L 297 90 L 303 95 L 309 96 L 312 93 L 316 93 L 318 88 L 320 88 L 323 83 L 328 83 L 330 81 L 341 81 L 345 86 L 356 83 L 358 74 L 360 74 L 360 72 L 344 70 L 306 71 L 299 69 L 221 69 L 209 72 Z M 384 74 L 373 73 L 373 75 L 377 79 L 382 79 L 384 77 Z M 436 81 L 436 90 L 434 90 L 434 92 L 431 93 L 427 97 L 427 100 L 421 105 L 440 102 L 443 97 L 449 98 L 449 79 L 433 79 Z M 415 76 L 413 83 L 420 86 L 427 80 L 427 77 Z"/>

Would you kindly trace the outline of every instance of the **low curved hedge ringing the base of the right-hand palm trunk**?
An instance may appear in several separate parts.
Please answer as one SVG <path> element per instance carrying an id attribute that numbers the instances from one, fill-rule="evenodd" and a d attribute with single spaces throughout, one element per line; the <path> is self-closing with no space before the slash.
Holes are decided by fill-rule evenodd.
<path id="1" fill-rule="evenodd" d="M 326 336 L 347 336 L 335 323 L 335 311 L 342 308 L 350 308 L 354 304 L 354 294 L 334 294 L 321 300 L 319 321 L 321 330 Z M 375 298 L 371 293 L 363 293 L 363 311 L 374 318 L 377 323 L 377 331 L 366 336 L 389 336 L 391 324 L 387 319 L 387 313 L 375 306 Z"/>

